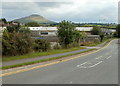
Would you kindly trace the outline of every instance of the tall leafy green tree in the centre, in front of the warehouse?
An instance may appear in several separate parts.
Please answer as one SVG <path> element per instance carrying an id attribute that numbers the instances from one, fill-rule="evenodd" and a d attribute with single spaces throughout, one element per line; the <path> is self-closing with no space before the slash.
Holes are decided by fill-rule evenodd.
<path id="1" fill-rule="evenodd" d="M 75 26 L 71 22 L 65 20 L 60 22 L 57 31 L 60 44 L 67 48 L 69 44 L 78 40 L 77 35 L 79 34 L 76 32 Z"/>

